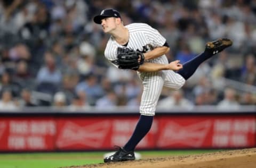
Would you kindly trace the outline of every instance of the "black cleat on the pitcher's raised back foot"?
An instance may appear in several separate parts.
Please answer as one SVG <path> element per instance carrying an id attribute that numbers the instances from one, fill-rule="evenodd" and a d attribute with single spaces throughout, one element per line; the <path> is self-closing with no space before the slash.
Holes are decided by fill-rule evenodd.
<path id="1" fill-rule="evenodd" d="M 215 41 L 206 43 L 205 52 L 215 55 L 223 51 L 223 49 L 231 46 L 233 42 L 228 38 L 219 38 Z"/>

